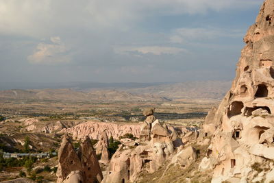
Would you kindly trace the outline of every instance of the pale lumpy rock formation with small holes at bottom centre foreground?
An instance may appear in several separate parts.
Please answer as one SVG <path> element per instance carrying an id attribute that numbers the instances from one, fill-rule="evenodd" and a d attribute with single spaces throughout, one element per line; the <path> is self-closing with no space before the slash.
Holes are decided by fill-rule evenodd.
<path id="1" fill-rule="evenodd" d="M 141 171 L 153 173 L 172 157 L 175 151 L 173 143 L 177 141 L 175 130 L 169 130 L 158 120 L 148 124 L 145 130 L 147 138 L 140 138 L 138 142 L 122 142 L 110 160 L 103 183 L 136 182 Z"/>

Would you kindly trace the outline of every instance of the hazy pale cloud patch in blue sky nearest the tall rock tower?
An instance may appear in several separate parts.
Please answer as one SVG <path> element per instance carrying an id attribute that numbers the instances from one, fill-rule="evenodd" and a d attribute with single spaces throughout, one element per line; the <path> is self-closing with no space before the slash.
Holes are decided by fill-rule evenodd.
<path id="1" fill-rule="evenodd" d="M 241 30 L 220 29 L 217 27 L 179 28 L 173 30 L 170 40 L 173 43 L 186 43 L 197 40 L 213 40 L 216 38 L 241 38 Z"/>

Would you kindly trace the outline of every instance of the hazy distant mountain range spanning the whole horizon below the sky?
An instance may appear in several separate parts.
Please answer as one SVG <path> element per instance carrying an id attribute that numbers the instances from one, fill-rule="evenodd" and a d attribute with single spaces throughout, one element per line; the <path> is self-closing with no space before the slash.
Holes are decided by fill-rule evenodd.
<path id="1" fill-rule="evenodd" d="M 0 99 L 64 101 L 167 101 L 171 99 L 221 99 L 231 82 L 184 82 L 175 84 L 70 84 L 47 89 L 0 90 Z M 66 87 L 65 87 L 66 86 Z M 36 86 L 38 88 L 38 86 Z"/>

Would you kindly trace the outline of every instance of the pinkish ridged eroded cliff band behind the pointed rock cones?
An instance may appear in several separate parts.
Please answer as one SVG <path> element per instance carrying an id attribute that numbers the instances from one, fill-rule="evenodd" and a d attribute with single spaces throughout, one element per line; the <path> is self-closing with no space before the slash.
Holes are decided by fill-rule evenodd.
<path id="1" fill-rule="evenodd" d="M 124 134 L 133 134 L 136 137 L 140 136 L 140 125 L 138 123 L 104 123 L 88 121 L 81 123 L 67 129 L 63 129 L 60 133 L 72 134 L 73 139 L 84 139 L 89 136 L 92 139 L 99 140 L 100 134 L 105 131 L 108 136 L 113 136 L 115 139 L 119 139 L 119 136 Z"/>

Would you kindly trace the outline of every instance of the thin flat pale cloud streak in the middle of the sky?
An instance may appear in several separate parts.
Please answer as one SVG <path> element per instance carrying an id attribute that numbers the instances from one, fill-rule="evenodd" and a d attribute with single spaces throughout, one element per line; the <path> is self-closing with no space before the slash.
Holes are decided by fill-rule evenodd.
<path id="1" fill-rule="evenodd" d="M 177 48 L 177 47 L 119 47 L 114 49 L 116 53 L 125 54 L 132 53 L 134 51 L 138 51 L 142 54 L 152 53 L 153 55 L 160 56 L 162 54 L 171 54 L 176 55 L 182 52 L 188 52 L 186 49 Z"/>

